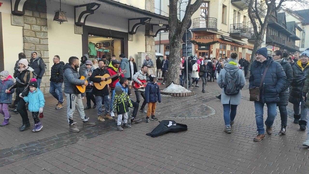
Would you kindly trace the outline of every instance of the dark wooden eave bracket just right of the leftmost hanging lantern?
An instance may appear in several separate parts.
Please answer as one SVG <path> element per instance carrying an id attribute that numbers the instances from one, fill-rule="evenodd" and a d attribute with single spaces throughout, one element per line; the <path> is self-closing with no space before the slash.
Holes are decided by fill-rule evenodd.
<path id="1" fill-rule="evenodd" d="M 99 7 L 100 4 L 95 2 L 74 6 L 75 24 L 85 25 L 87 17 L 94 14 L 94 11 L 97 10 Z"/>

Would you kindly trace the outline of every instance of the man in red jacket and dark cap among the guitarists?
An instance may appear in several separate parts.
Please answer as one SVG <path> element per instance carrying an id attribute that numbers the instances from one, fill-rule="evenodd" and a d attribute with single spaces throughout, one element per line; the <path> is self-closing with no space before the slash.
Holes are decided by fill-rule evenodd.
<path id="1" fill-rule="evenodd" d="M 118 74 L 118 76 L 112 78 L 112 83 L 109 84 L 109 87 L 111 88 L 111 94 L 113 94 L 113 91 L 115 89 L 116 83 L 119 82 L 119 78 L 124 77 L 123 74 L 121 74 L 121 68 L 120 66 L 120 61 L 118 60 L 112 60 L 112 62 L 108 65 L 107 71 L 110 76 L 113 76 L 115 74 Z M 111 110 L 111 117 L 115 117 L 114 112 L 112 112 L 112 104 L 113 104 L 113 97 L 111 97 L 110 105 L 109 108 Z M 105 105 L 105 104 L 104 104 Z"/>

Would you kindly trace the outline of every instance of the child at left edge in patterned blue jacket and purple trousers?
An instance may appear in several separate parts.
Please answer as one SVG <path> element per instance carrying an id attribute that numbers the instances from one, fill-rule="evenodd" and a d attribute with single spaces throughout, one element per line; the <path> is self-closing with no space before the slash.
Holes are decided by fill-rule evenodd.
<path id="1" fill-rule="evenodd" d="M 4 121 L 0 126 L 6 126 L 10 124 L 9 119 L 11 115 L 7 110 L 7 107 L 12 102 L 12 94 L 14 93 L 14 89 L 9 91 L 9 87 L 14 84 L 12 76 L 9 75 L 8 71 L 0 72 L 0 113 L 4 115 Z"/>

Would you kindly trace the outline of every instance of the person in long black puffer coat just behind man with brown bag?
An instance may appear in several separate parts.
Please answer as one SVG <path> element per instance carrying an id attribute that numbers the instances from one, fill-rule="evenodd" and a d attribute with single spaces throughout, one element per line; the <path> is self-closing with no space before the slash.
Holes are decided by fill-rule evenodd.
<path id="1" fill-rule="evenodd" d="M 288 120 L 286 106 L 289 103 L 289 86 L 293 80 L 293 69 L 290 63 L 283 58 L 283 53 L 280 50 L 273 52 L 273 60 L 275 62 L 279 62 L 283 67 L 284 72 L 286 73 L 286 84 L 284 85 L 282 92 L 279 94 L 280 101 L 277 102 L 281 117 L 281 130 L 279 133 L 286 134 L 286 124 Z"/>

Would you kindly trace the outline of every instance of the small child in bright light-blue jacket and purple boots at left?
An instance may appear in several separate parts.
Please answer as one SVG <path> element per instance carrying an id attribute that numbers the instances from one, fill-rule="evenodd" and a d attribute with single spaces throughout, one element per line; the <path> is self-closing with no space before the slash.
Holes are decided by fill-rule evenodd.
<path id="1" fill-rule="evenodd" d="M 40 89 L 37 88 L 38 84 L 36 79 L 31 79 L 29 83 L 29 94 L 28 96 L 23 97 L 25 102 L 28 102 L 28 110 L 32 112 L 32 117 L 34 120 L 34 129 L 32 132 L 38 132 L 43 128 L 42 123 L 40 122 L 38 115 L 43 112 L 43 107 L 45 104 L 44 95 Z"/>

